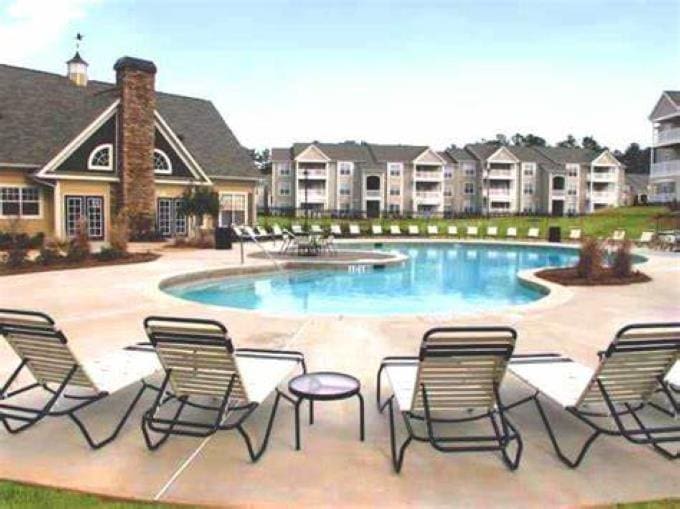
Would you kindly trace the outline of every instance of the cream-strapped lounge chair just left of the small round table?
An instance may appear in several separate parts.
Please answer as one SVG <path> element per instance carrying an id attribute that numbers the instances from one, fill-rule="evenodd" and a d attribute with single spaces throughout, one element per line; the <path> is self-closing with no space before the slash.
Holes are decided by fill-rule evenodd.
<path id="1" fill-rule="evenodd" d="M 235 429 L 246 443 L 250 459 L 260 459 L 279 400 L 288 399 L 277 386 L 297 367 L 306 372 L 304 356 L 283 350 L 236 350 L 227 329 L 214 320 L 150 316 L 144 320 L 144 329 L 165 370 L 158 396 L 142 416 L 147 447 L 155 450 L 171 435 L 208 437 Z M 264 438 L 253 448 L 243 423 L 274 393 Z M 163 416 L 171 401 L 177 408 Z M 187 407 L 194 411 L 184 416 Z M 204 412 L 212 413 L 213 418 L 201 419 Z M 152 432 L 160 437 L 154 438 Z"/>

